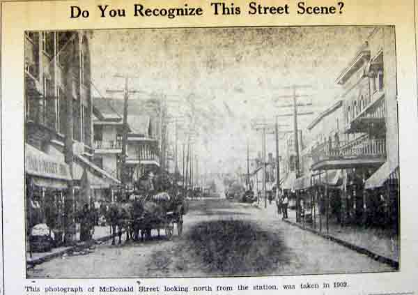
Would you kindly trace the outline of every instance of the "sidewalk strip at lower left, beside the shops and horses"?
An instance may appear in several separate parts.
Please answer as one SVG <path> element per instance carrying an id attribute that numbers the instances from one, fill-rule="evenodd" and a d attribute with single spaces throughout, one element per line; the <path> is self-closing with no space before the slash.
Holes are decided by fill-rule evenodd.
<path id="1" fill-rule="evenodd" d="M 79 241 L 79 235 L 80 235 L 79 232 L 77 232 L 76 241 Z M 111 233 L 110 233 L 109 227 L 108 226 L 107 227 L 96 226 L 94 229 L 93 240 L 106 241 L 108 239 L 111 239 Z M 33 252 L 32 257 L 29 254 L 29 252 L 26 252 L 26 267 L 40 264 L 49 259 L 59 257 L 65 253 L 68 253 L 74 250 L 77 247 L 85 248 L 87 246 L 88 245 L 86 245 L 86 243 L 79 242 L 77 243 L 77 245 L 74 245 L 74 246 L 67 246 L 67 247 L 62 246 L 62 247 L 52 248 L 52 250 L 49 252 Z"/>

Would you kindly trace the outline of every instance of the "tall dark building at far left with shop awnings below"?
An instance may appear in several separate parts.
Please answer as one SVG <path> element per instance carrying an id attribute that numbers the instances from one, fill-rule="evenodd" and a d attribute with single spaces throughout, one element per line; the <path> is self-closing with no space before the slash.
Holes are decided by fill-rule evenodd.
<path id="1" fill-rule="evenodd" d="M 71 208 L 77 209 L 91 201 L 93 186 L 118 183 L 91 162 L 94 150 L 89 34 L 25 33 L 26 198 L 39 198 L 41 206 L 54 204 L 62 208 L 69 194 L 75 195 L 77 202 Z M 75 188 L 75 192 L 69 193 L 68 188 Z"/>

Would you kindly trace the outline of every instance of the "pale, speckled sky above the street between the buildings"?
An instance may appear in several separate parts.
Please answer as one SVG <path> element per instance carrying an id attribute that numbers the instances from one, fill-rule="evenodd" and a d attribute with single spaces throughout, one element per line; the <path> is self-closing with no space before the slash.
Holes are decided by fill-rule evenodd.
<path id="1" fill-rule="evenodd" d="M 106 89 L 122 89 L 115 74 L 130 75 L 130 88 L 143 91 L 130 99 L 164 93 L 169 112 L 190 111 L 196 105 L 196 149 L 208 172 L 234 172 L 261 151 L 261 133 L 251 130 L 251 119 L 273 121 L 278 108 L 274 96 L 283 89 L 308 84 L 298 93 L 320 112 L 341 89 L 336 77 L 353 59 L 371 27 L 270 27 L 206 29 L 129 29 L 93 31 L 90 40 L 92 80 L 102 96 Z M 288 99 L 280 98 L 279 104 Z M 301 116 L 304 129 L 314 116 Z M 292 128 L 291 117 L 280 119 Z M 268 152 L 274 136 L 268 135 Z"/>

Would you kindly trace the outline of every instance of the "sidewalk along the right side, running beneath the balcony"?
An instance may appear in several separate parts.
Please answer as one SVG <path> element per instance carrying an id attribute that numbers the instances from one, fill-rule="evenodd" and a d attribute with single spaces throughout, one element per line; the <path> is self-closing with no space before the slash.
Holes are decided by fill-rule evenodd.
<path id="1" fill-rule="evenodd" d="M 263 207 L 262 209 L 265 210 Z M 277 215 L 275 204 L 268 205 L 267 211 L 269 215 L 275 214 L 278 218 L 281 218 L 281 215 Z M 330 220 L 327 233 L 324 216 L 322 217 L 322 229 L 320 231 L 318 216 L 316 216 L 316 228 L 314 229 L 310 223 L 296 222 L 295 210 L 288 210 L 288 219 L 284 221 L 398 268 L 398 236 L 391 234 L 389 230 L 365 228 L 356 225 L 341 227 L 335 220 Z"/>

